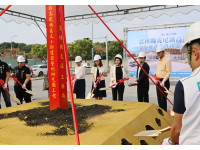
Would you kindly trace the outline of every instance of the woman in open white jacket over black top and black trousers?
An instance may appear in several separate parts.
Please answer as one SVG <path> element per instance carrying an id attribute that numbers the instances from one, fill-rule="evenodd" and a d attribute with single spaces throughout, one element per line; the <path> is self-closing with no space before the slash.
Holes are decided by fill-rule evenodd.
<path id="1" fill-rule="evenodd" d="M 110 68 L 110 85 L 116 84 L 119 82 L 120 79 L 124 79 L 129 77 L 129 73 L 127 69 L 122 66 L 122 56 L 120 54 L 117 54 L 115 56 L 115 65 Z M 124 95 L 124 82 L 121 84 L 117 84 L 117 86 L 114 86 L 112 88 L 112 97 L 113 100 L 123 101 L 123 95 Z"/>

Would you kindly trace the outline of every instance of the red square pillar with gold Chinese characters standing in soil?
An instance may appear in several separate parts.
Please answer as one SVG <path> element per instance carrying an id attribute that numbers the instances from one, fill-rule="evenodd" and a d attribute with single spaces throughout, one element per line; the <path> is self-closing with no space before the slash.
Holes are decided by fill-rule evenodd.
<path id="1" fill-rule="evenodd" d="M 50 110 L 67 109 L 67 75 L 58 5 L 46 6 Z"/>

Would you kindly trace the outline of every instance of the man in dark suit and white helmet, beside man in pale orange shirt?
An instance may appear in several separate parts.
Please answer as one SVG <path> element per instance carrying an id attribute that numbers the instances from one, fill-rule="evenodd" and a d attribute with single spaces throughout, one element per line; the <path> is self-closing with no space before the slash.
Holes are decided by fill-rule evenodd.
<path id="1" fill-rule="evenodd" d="M 138 58 L 142 68 L 149 74 L 150 68 L 145 62 L 145 52 L 140 52 Z M 136 78 L 138 102 L 149 102 L 149 78 L 139 66 L 137 67 Z"/>

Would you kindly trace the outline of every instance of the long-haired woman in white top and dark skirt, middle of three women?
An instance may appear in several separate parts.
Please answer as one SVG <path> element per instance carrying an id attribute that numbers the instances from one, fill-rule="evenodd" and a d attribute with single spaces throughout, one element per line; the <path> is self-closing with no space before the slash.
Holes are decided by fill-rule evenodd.
<path id="1" fill-rule="evenodd" d="M 101 61 L 101 56 L 100 55 L 95 55 L 94 56 L 94 66 L 91 69 L 91 73 L 92 73 L 92 89 L 95 86 L 95 83 L 97 81 L 97 77 L 99 77 L 99 75 L 101 73 L 103 73 L 103 75 L 101 76 L 101 80 L 100 83 L 98 83 L 95 87 L 95 90 L 93 92 L 95 99 L 97 100 L 102 100 L 103 97 L 106 97 L 106 91 L 100 91 L 100 88 L 106 87 L 105 84 L 105 77 L 107 77 L 107 70 L 106 68 L 103 66 L 102 61 Z"/>

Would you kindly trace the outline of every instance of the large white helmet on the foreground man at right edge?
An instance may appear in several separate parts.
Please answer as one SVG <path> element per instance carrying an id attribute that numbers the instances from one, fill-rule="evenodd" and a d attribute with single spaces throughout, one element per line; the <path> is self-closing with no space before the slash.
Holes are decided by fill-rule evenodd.
<path id="1" fill-rule="evenodd" d="M 187 51 L 187 44 L 196 39 L 200 39 L 200 21 L 193 23 L 186 31 L 181 51 Z"/>

